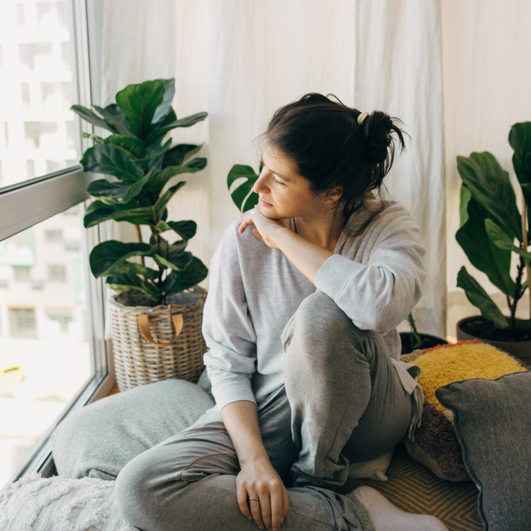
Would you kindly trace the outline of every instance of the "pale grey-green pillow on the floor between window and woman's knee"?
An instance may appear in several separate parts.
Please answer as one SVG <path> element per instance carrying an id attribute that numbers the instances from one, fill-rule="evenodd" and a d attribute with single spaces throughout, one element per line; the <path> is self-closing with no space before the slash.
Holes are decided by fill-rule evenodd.
<path id="1" fill-rule="evenodd" d="M 162 380 L 97 400 L 55 429 L 57 472 L 113 480 L 129 460 L 192 425 L 213 405 L 201 386 L 185 380 Z"/>

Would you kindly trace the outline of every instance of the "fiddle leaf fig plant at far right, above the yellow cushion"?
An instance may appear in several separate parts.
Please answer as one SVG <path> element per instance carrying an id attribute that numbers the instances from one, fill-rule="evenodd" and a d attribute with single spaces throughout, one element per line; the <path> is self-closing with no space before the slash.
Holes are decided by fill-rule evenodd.
<path id="1" fill-rule="evenodd" d="M 530 329 L 530 319 L 516 318 L 516 307 L 530 279 L 531 122 L 514 124 L 509 143 L 514 150 L 512 163 L 523 207 L 519 209 L 510 176 L 492 153 L 458 156 L 457 168 L 463 183 L 460 228 L 456 232 L 470 263 L 505 295 L 509 315 L 501 311 L 465 266 L 458 272 L 457 285 L 494 327 Z"/>

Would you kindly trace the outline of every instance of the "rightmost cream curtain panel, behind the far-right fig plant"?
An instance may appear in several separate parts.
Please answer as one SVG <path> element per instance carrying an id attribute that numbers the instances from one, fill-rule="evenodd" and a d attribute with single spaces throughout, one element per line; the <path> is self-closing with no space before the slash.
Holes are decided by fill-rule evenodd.
<path id="1" fill-rule="evenodd" d="M 507 313 L 507 304 L 499 291 L 485 275 L 474 271 L 455 240 L 460 190 L 456 156 L 490 151 L 514 178 L 507 137 L 512 124 L 531 120 L 530 20 L 531 3 L 526 0 L 442 2 L 447 330 L 451 335 L 455 335 L 458 319 L 478 314 L 463 291 L 456 288 L 461 265 L 466 265 L 485 289 L 494 294 L 501 310 Z M 527 296 L 520 301 L 519 317 L 529 318 L 528 301 Z"/>

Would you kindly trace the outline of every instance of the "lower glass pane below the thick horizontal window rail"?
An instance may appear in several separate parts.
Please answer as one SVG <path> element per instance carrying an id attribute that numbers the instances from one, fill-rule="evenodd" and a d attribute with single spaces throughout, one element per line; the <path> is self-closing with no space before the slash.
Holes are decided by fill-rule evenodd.
<path id="1" fill-rule="evenodd" d="M 0 241 L 0 487 L 93 375 L 80 207 Z"/>

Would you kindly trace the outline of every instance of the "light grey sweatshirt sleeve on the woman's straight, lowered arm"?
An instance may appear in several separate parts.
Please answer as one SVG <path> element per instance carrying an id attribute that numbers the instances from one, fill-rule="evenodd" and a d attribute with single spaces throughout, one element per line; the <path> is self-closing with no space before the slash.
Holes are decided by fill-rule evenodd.
<path id="1" fill-rule="evenodd" d="M 210 264 L 203 336 L 209 348 L 204 362 L 218 409 L 236 400 L 256 403 L 251 387 L 257 359 L 256 335 L 229 231 Z"/>

